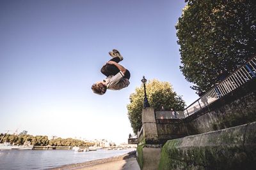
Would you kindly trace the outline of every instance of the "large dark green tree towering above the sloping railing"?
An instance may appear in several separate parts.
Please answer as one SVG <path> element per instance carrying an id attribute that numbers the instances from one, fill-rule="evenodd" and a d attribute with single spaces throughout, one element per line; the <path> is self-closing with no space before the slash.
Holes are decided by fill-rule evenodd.
<path id="1" fill-rule="evenodd" d="M 186 0 L 176 25 L 182 65 L 192 89 L 208 90 L 256 53 L 255 0 Z"/>

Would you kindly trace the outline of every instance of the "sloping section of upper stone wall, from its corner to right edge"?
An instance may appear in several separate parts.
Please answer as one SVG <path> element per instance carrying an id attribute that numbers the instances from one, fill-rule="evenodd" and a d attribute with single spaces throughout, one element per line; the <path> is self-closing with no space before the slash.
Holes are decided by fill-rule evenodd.
<path id="1" fill-rule="evenodd" d="M 227 96 L 186 118 L 188 134 L 218 131 L 256 121 L 256 80 L 243 85 Z"/>

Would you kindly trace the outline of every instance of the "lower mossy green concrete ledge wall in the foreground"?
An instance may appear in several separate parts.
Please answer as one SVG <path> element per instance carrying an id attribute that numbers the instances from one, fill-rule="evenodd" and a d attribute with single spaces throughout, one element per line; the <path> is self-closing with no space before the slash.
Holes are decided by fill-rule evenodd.
<path id="1" fill-rule="evenodd" d="M 159 169 L 255 169 L 256 122 L 172 139 Z"/>

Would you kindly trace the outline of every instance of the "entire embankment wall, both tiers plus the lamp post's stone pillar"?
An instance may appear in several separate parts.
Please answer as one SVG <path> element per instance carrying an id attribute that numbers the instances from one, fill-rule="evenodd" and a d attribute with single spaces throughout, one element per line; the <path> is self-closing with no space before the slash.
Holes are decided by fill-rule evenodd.
<path id="1" fill-rule="evenodd" d="M 143 135 L 137 148 L 141 169 L 157 169 L 161 145 L 168 139 L 173 140 L 163 147 L 159 169 L 239 169 L 255 166 L 252 161 L 256 162 L 256 125 L 243 125 L 256 122 L 255 87 L 254 79 L 182 120 L 156 120 L 153 108 L 143 109 Z M 234 127 L 236 125 L 242 126 Z M 220 129 L 223 130 L 217 131 Z M 199 135 L 191 136 L 193 134 Z"/>

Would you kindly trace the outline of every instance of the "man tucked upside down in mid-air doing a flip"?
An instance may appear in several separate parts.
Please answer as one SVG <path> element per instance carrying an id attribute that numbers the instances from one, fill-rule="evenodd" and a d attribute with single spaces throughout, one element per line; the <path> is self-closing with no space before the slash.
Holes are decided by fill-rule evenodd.
<path id="1" fill-rule="evenodd" d="M 102 68 L 100 72 L 107 76 L 103 81 L 97 81 L 92 85 L 92 90 L 95 94 L 105 94 L 106 90 L 121 90 L 128 87 L 130 84 L 131 74 L 128 69 L 119 64 L 124 59 L 118 50 L 113 49 L 109 52 L 109 55 L 113 59 L 109 60 Z"/>

